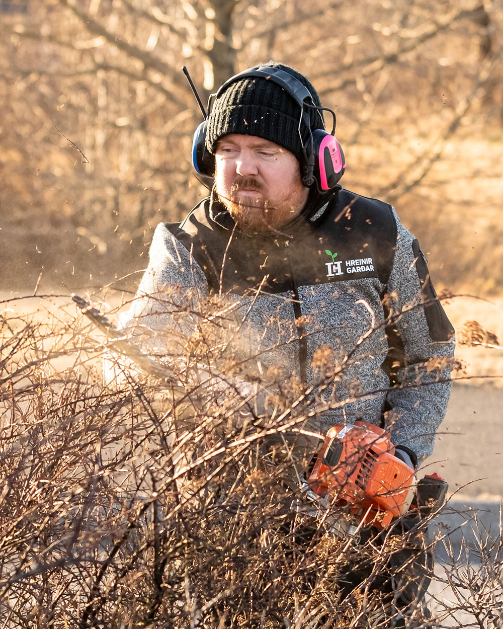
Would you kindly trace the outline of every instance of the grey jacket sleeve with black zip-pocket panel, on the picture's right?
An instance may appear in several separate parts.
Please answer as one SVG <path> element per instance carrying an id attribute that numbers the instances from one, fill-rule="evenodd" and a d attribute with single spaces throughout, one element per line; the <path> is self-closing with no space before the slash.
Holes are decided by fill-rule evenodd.
<path id="1" fill-rule="evenodd" d="M 385 298 L 393 386 L 385 427 L 415 462 L 433 452 L 450 398 L 454 330 L 434 291 L 417 240 L 398 216 L 394 263 Z"/>

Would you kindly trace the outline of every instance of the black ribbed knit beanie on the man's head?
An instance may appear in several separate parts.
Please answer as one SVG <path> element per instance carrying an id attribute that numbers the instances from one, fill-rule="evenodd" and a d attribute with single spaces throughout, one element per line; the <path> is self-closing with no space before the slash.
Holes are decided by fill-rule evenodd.
<path id="1" fill-rule="evenodd" d="M 288 65 L 271 62 L 262 67 L 274 67 L 292 74 L 311 93 L 312 101 L 320 106 L 318 92 L 306 77 Z M 311 119 L 311 129 L 323 129 L 321 116 L 314 109 L 306 108 Z M 299 105 L 290 94 L 273 81 L 262 77 L 246 77 L 233 81 L 214 101 L 207 119 L 206 148 L 216 150 L 216 143 L 224 135 L 240 133 L 255 135 L 269 140 L 294 153 L 302 163 L 302 143 L 299 137 Z M 301 125 L 301 132 L 304 125 Z M 304 130 L 303 140 L 308 133 Z"/>

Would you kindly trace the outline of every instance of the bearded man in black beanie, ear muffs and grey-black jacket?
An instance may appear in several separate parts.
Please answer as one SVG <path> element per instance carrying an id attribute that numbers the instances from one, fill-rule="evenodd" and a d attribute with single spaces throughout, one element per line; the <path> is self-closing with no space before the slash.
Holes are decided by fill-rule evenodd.
<path id="1" fill-rule="evenodd" d="M 127 325 L 156 330 L 160 353 L 169 330 L 178 356 L 204 337 L 207 362 L 226 365 L 243 395 L 253 382 L 257 399 L 307 404 L 303 440 L 283 440 L 296 464 L 314 434 L 365 420 L 416 468 L 445 414 L 453 330 L 394 209 L 338 184 L 343 153 L 314 87 L 282 64 L 231 77 L 194 165 L 214 178 L 211 195 L 158 226 Z"/>

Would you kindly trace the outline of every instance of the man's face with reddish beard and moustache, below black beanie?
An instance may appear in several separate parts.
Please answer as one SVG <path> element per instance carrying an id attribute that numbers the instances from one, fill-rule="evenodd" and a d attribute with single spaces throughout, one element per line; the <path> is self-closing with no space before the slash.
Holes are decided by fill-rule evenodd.
<path id="1" fill-rule="evenodd" d="M 215 151 L 218 198 L 241 230 L 278 231 L 307 201 L 293 153 L 254 135 L 232 133 Z"/>

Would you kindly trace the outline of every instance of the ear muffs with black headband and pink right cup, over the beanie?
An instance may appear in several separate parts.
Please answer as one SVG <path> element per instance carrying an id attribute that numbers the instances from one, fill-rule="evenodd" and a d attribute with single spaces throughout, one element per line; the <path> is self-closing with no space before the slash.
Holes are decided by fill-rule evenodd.
<path id="1" fill-rule="evenodd" d="M 311 92 L 309 92 L 307 87 L 296 79 L 296 77 L 289 74 L 289 72 L 285 72 L 285 70 L 279 68 L 257 66 L 233 75 L 227 79 L 214 94 L 209 96 L 208 115 L 211 112 L 214 101 L 218 99 L 220 94 L 224 92 L 231 83 L 241 81 L 241 79 L 248 77 L 258 77 L 274 82 L 282 87 L 299 105 L 301 110 L 299 115 L 299 136 L 301 138 L 301 145 L 306 161 L 306 164 L 304 164 L 305 172 L 302 176 L 304 185 L 307 187 L 316 186 L 320 192 L 328 191 L 335 187 L 344 174 L 346 167 L 343 150 L 336 138 L 324 128 L 323 115 L 321 114 L 321 109 L 323 108 L 319 108 L 314 104 Z M 316 110 L 323 125 L 323 129 L 311 129 L 311 119 L 306 109 Z M 302 123 L 304 123 L 309 131 L 309 139 L 306 144 L 304 144 L 304 139 L 302 138 Z M 200 177 L 198 177 L 199 181 L 207 187 L 211 187 L 209 178 L 213 177 L 214 156 L 209 153 L 206 148 L 206 120 L 197 127 L 194 133 L 192 140 L 192 166 L 194 170 L 196 170 L 196 173 L 200 175 Z"/>

